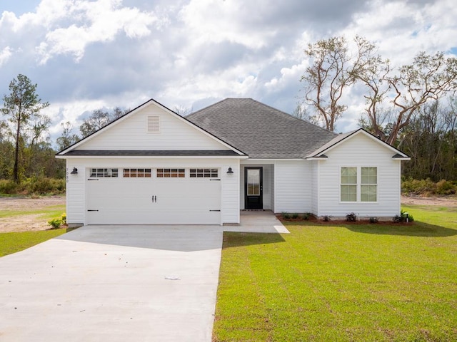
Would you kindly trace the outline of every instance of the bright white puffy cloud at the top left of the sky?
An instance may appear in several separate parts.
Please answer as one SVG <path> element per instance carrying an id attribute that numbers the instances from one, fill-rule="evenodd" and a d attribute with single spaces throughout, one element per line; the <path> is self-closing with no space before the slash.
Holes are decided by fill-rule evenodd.
<path id="1" fill-rule="evenodd" d="M 36 12 L 36 17 L 45 18 L 44 25 L 49 27 L 44 41 L 36 47 L 41 64 L 62 54 L 80 61 L 91 43 L 114 41 L 120 32 L 129 38 L 142 38 L 151 33 L 153 24 L 160 28 L 166 22 L 153 12 L 121 7 L 119 0 L 57 2 L 61 4 L 42 1 Z"/>

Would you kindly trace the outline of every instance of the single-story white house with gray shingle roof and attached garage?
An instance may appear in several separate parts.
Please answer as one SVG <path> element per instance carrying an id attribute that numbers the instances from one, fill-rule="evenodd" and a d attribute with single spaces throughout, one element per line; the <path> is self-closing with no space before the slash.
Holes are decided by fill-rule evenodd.
<path id="1" fill-rule="evenodd" d="M 249 98 L 181 117 L 149 100 L 57 153 L 69 224 L 233 224 L 240 210 L 400 213 L 400 150 Z"/>

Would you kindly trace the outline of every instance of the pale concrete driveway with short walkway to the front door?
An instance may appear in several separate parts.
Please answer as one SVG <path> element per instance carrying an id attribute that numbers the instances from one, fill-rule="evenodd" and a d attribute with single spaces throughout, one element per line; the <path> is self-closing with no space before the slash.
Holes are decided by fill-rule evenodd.
<path id="1" fill-rule="evenodd" d="M 223 231 L 283 229 L 272 214 L 254 216 L 81 227 L 2 257 L 0 341 L 210 342 Z"/>

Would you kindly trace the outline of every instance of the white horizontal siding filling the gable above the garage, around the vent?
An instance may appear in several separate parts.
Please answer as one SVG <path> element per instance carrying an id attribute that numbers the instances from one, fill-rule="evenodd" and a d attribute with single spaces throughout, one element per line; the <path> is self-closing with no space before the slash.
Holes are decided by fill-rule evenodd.
<path id="1" fill-rule="evenodd" d="M 159 118 L 159 132 L 148 133 L 149 129 L 156 129 L 153 123 L 149 127 L 150 117 Z M 109 125 L 102 134 L 83 142 L 78 150 L 228 150 L 228 147 L 151 104 Z"/>

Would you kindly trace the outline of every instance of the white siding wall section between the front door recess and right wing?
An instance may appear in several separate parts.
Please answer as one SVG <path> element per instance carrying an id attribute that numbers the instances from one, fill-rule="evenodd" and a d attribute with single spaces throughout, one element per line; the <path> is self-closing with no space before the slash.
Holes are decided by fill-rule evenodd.
<path id="1" fill-rule="evenodd" d="M 275 212 L 311 212 L 311 162 L 275 162 Z"/>

